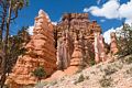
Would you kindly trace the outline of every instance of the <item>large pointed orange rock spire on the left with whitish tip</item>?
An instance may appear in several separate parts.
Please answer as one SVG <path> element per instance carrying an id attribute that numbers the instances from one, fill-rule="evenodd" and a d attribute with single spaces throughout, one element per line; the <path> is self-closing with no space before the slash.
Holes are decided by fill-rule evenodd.
<path id="1" fill-rule="evenodd" d="M 9 79 L 18 85 L 32 85 L 36 78 L 32 72 L 42 66 L 50 76 L 56 70 L 56 50 L 54 46 L 53 25 L 47 14 L 38 11 L 35 18 L 33 35 L 25 45 L 26 53 L 19 56 Z M 16 88 L 16 87 L 12 87 Z"/>

